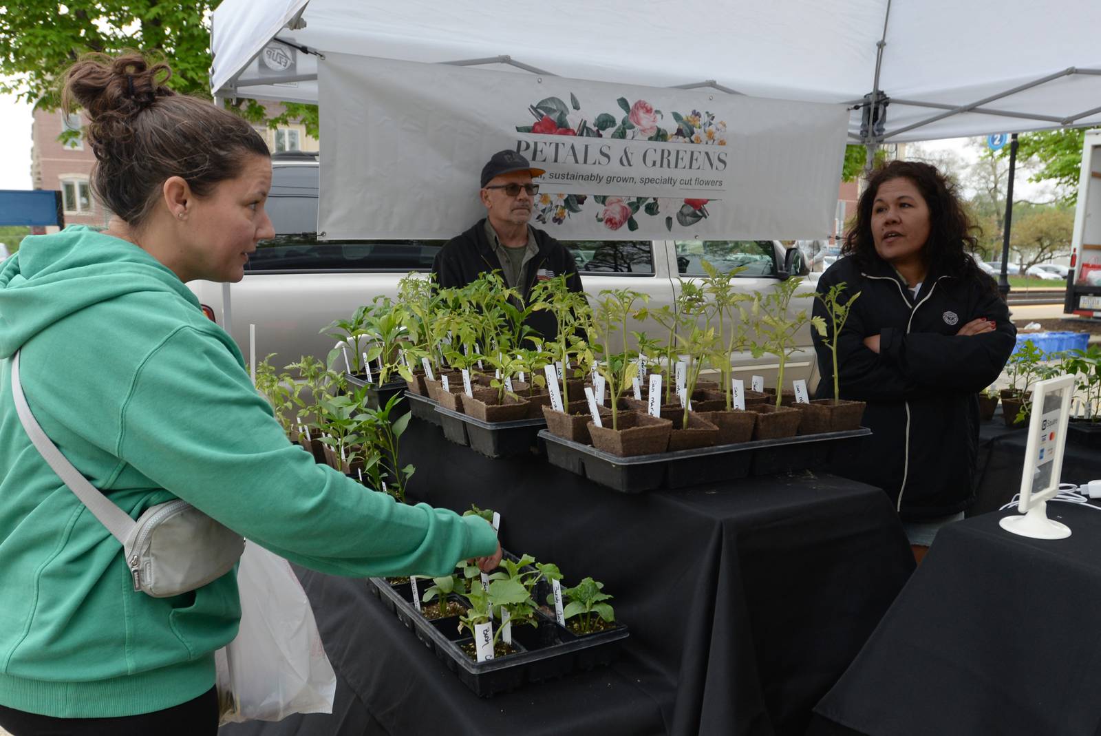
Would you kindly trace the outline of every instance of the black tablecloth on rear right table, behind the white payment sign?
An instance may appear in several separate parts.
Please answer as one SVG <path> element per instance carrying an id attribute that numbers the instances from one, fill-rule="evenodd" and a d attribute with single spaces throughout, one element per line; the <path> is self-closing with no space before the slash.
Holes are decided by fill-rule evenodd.
<path id="1" fill-rule="evenodd" d="M 975 501 L 968 516 L 996 511 L 1021 491 L 1027 443 L 1027 429 L 1005 426 L 1001 414 L 979 425 Z M 1076 485 L 1101 478 L 1101 452 L 1068 442 L 1061 476 Z"/>

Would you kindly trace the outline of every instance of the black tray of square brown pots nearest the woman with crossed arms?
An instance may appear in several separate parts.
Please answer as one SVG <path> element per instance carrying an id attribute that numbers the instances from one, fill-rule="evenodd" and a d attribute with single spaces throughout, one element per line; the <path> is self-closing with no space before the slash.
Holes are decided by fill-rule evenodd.
<path id="1" fill-rule="evenodd" d="M 871 430 L 860 427 L 633 457 L 601 452 L 592 445 L 570 442 L 546 430 L 538 436 L 546 443 L 547 461 L 552 465 L 620 493 L 641 494 L 657 488 L 685 488 L 735 480 L 748 475 L 773 475 L 817 467 L 829 461 L 831 452 L 842 450 L 846 444 L 871 433 Z"/>

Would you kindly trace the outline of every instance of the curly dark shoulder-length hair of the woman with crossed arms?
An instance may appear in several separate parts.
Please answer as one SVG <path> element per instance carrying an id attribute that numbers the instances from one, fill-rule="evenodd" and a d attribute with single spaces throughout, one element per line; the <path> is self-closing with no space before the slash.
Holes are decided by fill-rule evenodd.
<path id="1" fill-rule="evenodd" d="M 872 172 L 857 204 L 857 216 L 844 234 L 841 255 L 851 256 L 862 268 L 879 260 L 872 238 L 872 205 L 880 186 L 895 178 L 912 182 L 929 208 L 929 239 L 923 249 L 929 271 L 989 281 L 994 288 L 993 279 L 983 273 L 969 255 L 978 246 L 975 232 L 981 230 L 963 209 L 956 185 L 936 166 L 918 161 L 891 161 Z"/>

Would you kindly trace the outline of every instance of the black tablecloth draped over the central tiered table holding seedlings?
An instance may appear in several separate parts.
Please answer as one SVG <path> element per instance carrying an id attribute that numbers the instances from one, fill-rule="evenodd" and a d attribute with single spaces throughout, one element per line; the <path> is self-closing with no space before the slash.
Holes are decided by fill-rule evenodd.
<path id="1" fill-rule="evenodd" d="M 419 421 L 402 443 L 415 500 L 500 511 L 506 549 L 606 583 L 631 629 L 621 659 L 480 701 L 362 581 L 302 571 L 340 715 L 226 733 L 802 734 L 913 570 L 882 491 L 832 476 L 629 496 L 535 456 L 487 459 Z"/>

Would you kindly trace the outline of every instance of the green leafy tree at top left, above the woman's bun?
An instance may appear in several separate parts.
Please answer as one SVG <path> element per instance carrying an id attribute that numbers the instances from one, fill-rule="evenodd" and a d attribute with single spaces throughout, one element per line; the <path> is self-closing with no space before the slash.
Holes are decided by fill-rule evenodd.
<path id="1" fill-rule="evenodd" d="M 58 82 L 81 54 L 119 54 L 140 50 L 172 65 L 168 86 L 178 93 L 210 98 L 210 13 L 220 0 L 97 0 L 59 4 L 53 0 L 19 0 L 0 12 L 0 91 L 45 110 L 61 105 Z M 265 119 L 251 99 L 227 100 L 250 122 Z M 276 127 L 302 120 L 317 137 L 317 106 L 287 102 L 270 118 Z"/>

